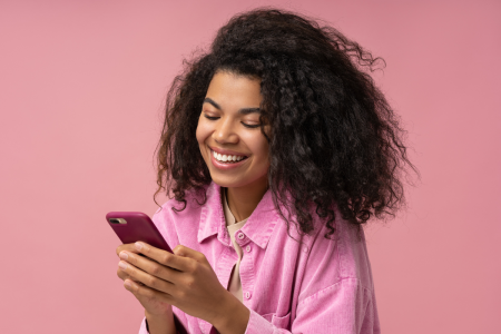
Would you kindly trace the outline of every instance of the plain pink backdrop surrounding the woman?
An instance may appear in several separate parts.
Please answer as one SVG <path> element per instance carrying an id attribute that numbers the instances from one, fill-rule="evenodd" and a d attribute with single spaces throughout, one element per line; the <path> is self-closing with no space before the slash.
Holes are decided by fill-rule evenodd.
<path id="1" fill-rule="evenodd" d="M 0 0 L 2 333 L 137 333 L 105 214 L 155 212 L 173 76 L 262 4 L 325 19 L 387 62 L 375 79 L 422 179 L 407 210 L 366 229 L 383 333 L 499 331 L 500 1 Z"/>

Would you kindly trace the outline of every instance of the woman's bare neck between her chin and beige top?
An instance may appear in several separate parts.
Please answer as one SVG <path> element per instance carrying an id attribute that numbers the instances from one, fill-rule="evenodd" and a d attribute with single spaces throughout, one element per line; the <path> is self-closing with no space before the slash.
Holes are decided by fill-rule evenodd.
<path id="1" fill-rule="evenodd" d="M 248 218 L 268 189 L 267 178 L 245 187 L 227 188 L 226 200 L 236 222 Z"/>

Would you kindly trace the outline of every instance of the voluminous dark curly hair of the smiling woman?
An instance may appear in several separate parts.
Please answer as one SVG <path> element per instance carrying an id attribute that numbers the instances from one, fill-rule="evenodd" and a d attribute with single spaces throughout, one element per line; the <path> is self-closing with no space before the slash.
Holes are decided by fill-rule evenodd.
<path id="1" fill-rule="evenodd" d="M 410 166 L 404 131 L 371 76 L 374 58 L 336 29 L 277 9 L 237 14 L 209 51 L 185 60 L 167 95 L 157 148 L 158 189 L 184 204 L 212 181 L 196 128 L 217 71 L 261 79 L 262 132 L 269 143 L 268 185 L 289 228 L 315 228 L 317 215 L 334 232 L 336 209 L 356 225 L 384 218 L 404 204 L 402 173 Z M 174 209 L 174 207 L 173 207 Z M 286 218 L 286 216 L 288 218 Z"/>

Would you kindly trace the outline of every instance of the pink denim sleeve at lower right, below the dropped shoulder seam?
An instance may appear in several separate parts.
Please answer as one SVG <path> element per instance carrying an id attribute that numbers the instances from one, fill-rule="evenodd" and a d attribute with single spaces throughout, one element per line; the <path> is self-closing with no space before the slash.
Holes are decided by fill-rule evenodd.
<path id="1" fill-rule="evenodd" d="M 295 320 L 288 314 L 268 322 L 250 310 L 245 334 L 325 333 L 326 328 L 336 334 L 376 334 L 380 330 L 373 302 L 358 279 L 345 278 L 299 303 Z"/>

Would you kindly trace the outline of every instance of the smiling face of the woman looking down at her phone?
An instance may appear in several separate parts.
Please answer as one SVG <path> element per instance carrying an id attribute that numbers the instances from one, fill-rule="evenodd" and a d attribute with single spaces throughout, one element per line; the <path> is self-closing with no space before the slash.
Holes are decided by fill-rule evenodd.
<path id="1" fill-rule="evenodd" d="M 259 84 L 218 71 L 207 89 L 197 140 L 213 180 L 222 187 L 266 187 L 268 141 L 261 131 Z"/>

